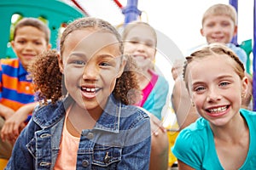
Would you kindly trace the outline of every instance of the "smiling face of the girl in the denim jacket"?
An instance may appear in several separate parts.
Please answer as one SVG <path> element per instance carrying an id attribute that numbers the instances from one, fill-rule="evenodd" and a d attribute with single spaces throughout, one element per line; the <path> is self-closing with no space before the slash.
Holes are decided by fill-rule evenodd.
<path id="1" fill-rule="evenodd" d="M 113 33 L 84 28 L 64 42 L 61 71 L 68 94 L 87 111 L 102 111 L 125 61 Z"/>

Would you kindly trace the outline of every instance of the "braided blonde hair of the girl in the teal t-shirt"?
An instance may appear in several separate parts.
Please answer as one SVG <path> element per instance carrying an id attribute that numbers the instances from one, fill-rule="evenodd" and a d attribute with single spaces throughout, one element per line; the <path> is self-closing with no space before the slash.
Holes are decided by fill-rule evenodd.
<path id="1" fill-rule="evenodd" d="M 238 58 L 238 56 L 230 48 L 227 48 L 224 44 L 216 42 L 216 43 L 211 43 L 207 47 L 201 48 L 200 50 L 195 51 L 194 53 L 186 57 L 185 65 L 183 67 L 183 79 L 184 79 L 184 82 L 186 82 L 187 88 L 188 88 L 188 81 L 187 81 L 188 65 L 195 59 L 204 59 L 207 56 L 211 56 L 211 55 L 229 56 L 231 59 L 234 59 L 234 61 L 236 62 L 236 65 L 234 65 L 236 74 L 241 79 L 245 77 L 245 68 L 241 60 Z"/>

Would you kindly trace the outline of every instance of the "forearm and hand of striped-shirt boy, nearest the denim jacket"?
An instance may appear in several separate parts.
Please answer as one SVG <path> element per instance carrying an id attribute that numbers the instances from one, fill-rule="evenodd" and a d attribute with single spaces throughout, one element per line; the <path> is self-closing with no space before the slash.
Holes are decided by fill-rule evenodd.
<path id="1" fill-rule="evenodd" d="M 27 116 L 32 113 L 34 107 L 38 102 L 30 103 L 20 107 L 18 111 L 10 116 L 3 125 L 1 130 L 1 138 L 4 140 L 9 140 L 12 143 L 15 143 L 15 140 L 20 134 L 20 131 L 25 127 L 25 121 Z"/>

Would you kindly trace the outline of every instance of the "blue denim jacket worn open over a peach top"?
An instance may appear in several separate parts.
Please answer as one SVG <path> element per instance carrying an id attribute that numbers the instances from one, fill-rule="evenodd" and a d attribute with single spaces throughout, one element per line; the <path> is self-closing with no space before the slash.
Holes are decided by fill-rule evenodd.
<path id="1" fill-rule="evenodd" d="M 72 102 L 67 97 L 35 109 L 15 142 L 6 169 L 54 169 L 66 111 Z M 148 169 L 150 135 L 148 115 L 111 95 L 96 126 L 81 133 L 76 169 Z"/>

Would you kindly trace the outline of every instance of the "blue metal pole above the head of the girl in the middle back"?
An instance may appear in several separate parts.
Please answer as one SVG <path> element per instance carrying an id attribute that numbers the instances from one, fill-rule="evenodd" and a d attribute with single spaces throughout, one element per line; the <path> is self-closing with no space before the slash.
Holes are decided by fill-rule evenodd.
<path id="1" fill-rule="evenodd" d="M 137 8 L 138 0 L 127 0 L 127 5 L 123 8 L 123 14 L 125 14 L 125 25 L 133 20 L 137 20 L 138 16 L 142 12 Z"/>

